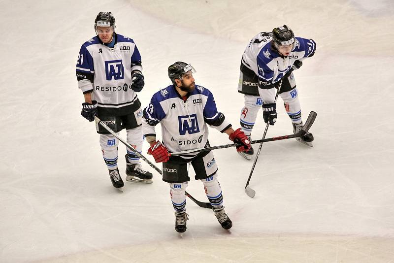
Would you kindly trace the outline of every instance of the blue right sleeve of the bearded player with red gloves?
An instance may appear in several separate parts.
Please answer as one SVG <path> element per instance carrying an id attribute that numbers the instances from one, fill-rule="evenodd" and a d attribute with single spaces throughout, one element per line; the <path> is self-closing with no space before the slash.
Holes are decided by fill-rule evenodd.
<path id="1" fill-rule="evenodd" d="M 215 128 L 219 132 L 225 132 L 231 127 L 231 124 L 226 120 L 226 117 L 222 112 L 218 112 L 212 93 L 207 89 L 205 89 L 205 92 L 207 99 L 202 111 L 204 121 L 210 127 Z"/>

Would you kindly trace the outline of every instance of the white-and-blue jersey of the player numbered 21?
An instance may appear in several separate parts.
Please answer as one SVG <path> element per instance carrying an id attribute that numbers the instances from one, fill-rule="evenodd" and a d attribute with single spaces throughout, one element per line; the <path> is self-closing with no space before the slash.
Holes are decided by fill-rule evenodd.
<path id="1" fill-rule="evenodd" d="M 92 92 L 103 115 L 120 116 L 130 113 L 137 94 L 131 90 L 131 71 L 142 72 L 141 56 L 134 41 L 114 33 L 115 45 L 104 45 L 98 36 L 86 41 L 79 51 L 76 64 L 78 87 Z"/>

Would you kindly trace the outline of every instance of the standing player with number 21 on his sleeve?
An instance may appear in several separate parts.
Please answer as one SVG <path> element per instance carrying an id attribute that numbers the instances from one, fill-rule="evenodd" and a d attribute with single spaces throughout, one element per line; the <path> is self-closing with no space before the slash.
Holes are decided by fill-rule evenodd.
<path id="1" fill-rule="evenodd" d="M 99 12 L 95 19 L 96 36 L 86 41 L 78 55 L 76 75 L 85 102 L 82 116 L 94 121 L 98 116 L 114 132 L 126 129 L 127 142 L 142 151 L 142 109 L 137 97 L 144 86 L 141 56 L 134 41 L 115 33 L 111 12 Z M 122 189 L 118 169 L 119 140 L 96 125 L 100 146 L 111 182 Z M 152 173 L 141 168 L 139 157 L 128 150 L 126 180 L 152 183 Z"/>

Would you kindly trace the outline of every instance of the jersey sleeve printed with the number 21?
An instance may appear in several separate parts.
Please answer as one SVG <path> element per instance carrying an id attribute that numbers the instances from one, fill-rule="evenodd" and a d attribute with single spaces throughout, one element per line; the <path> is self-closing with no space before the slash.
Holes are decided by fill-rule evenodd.
<path id="1" fill-rule="evenodd" d="M 77 75 L 78 88 L 80 88 L 83 93 L 93 91 L 95 68 L 93 57 L 85 45 L 82 45 L 79 51 L 75 73 Z"/>

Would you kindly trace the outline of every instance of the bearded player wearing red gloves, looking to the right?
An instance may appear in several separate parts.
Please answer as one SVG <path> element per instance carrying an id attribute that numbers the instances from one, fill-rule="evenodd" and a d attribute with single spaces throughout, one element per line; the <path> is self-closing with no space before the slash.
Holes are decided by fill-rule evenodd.
<path id="1" fill-rule="evenodd" d="M 208 127 L 225 132 L 237 144 L 238 151 L 247 150 L 250 142 L 241 129 L 234 131 L 224 114 L 218 112 L 212 93 L 195 84 L 190 64 L 176 62 L 168 67 L 172 84 L 155 93 L 143 111 L 142 124 L 146 140 L 157 163 L 163 162 L 163 181 L 169 183 L 172 205 L 175 209 L 175 230 L 186 231 L 186 187 L 190 181 L 188 164 L 201 180 L 205 194 L 213 206 L 221 226 L 229 230 L 232 222 L 223 206 L 222 189 L 217 179 L 218 167 L 211 151 L 170 156 L 168 153 L 209 147 Z M 155 126 L 161 124 L 162 142 L 156 138 Z"/>

